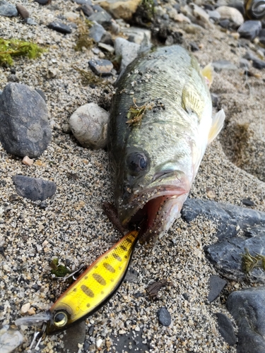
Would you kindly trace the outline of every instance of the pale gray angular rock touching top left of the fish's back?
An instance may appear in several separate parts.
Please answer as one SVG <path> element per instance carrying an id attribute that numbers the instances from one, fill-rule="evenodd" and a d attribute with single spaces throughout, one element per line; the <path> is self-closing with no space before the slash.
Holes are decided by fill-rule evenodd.
<path id="1" fill-rule="evenodd" d="M 114 42 L 114 49 L 117 56 L 122 56 L 120 71 L 124 71 L 126 66 L 136 59 L 140 45 L 124 40 L 124 38 L 117 37 Z"/>

